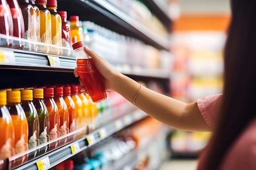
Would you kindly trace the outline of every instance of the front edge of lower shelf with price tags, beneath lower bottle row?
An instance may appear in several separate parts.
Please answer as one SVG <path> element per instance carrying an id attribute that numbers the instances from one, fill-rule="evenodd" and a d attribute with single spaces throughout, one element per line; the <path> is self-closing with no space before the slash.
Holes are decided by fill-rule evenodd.
<path id="1" fill-rule="evenodd" d="M 41 157 L 34 159 L 28 163 L 25 163 L 18 168 L 13 168 L 13 170 L 47 170 L 58 163 L 76 155 L 77 153 L 85 150 L 86 148 L 97 144 L 99 141 L 113 135 L 115 132 L 135 123 L 146 117 L 147 115 L 141 110 L 135 110 L 131 113 L 121 117 L 115 121 L 112 121 L 97 130 L 89 133 L 83 138 L 80 138 L 70 144 L 67 144 L 61 148 L 58 148 L 52 152 L 47 153 Z M 40 167 L 38 167 L 40 166 Z"/>

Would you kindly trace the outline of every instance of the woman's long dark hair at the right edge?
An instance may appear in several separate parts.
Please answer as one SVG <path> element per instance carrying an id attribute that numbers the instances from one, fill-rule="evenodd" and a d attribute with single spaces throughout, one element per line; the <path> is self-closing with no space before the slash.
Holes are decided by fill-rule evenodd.
<path id="1" fill-rule="evenodd" d="M 222 109 L 200 169 L 218 170 L 229 147 L 256 116 L 255 4 L 255 0 L 231 0 Z"/>

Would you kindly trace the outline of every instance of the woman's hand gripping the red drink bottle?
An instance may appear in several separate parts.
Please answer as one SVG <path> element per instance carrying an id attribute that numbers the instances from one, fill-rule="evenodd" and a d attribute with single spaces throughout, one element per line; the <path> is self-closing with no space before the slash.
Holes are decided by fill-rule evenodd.
<path id="1" fill-rule="evenodd" d="M 121 75 L 113 66 L 111 66 L 104 58 L 99 56 L 96 52 L 84 48 L 84 51 L 87 55 L 92 57 L 95 66 L 98 68 L 99 72 L 102 75 L 102 82 L 105 86 L 106 91 L 115 91 L 115 81 L 117 81 L 118 75 Z M 74 69 L 74 75 L 79 77 L 77 68 Z M 81 79 L 79 78 L 81 85 L 80 91 L 86 91 L 85 86 L 83 85 Z"/>

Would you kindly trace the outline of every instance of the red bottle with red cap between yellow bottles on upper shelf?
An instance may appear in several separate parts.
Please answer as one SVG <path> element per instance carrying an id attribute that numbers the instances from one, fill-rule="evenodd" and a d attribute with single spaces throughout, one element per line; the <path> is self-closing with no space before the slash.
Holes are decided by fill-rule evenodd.
<path id="1" fill-rule="evenodd" d="M 67 23 L 67 11 L 58 11 L 58 14 L 61 15 L 62 20 L 62 46 L 71 47 L 70 24 Z"/>

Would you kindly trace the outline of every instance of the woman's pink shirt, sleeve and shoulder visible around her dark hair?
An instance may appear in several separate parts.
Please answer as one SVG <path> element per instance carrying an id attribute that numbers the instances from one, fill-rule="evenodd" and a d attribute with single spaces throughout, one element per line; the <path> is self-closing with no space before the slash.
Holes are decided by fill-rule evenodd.
<path id="1" fill-rule="evenodd" d="M 197 104 L 199 110 L 204 117 L 206 123 L 214 128 L 216 109 L 219 109 L 222 94 L 210 95 L 202 99 L 198 99 Z M 221 139 L 220 139 L 221 140 Z M 207 150 L 205 150 L 207 152 Z M 199 159 L 203 164 L 202 159 Z M 234 141 L 231 148 L 227 151 L 227 155 L 223 159 L 220 170 L 256 170 L 256 119 L 253 119 L 243 130 L 243 133 Z"/>

